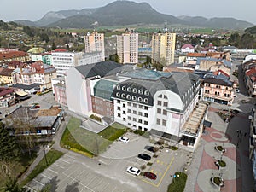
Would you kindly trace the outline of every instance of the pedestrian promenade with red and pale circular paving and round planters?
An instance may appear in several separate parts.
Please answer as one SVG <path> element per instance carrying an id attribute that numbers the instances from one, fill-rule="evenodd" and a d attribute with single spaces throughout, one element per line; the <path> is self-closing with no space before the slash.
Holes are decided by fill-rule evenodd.
<path id="1" fill-rule="evenodd" d="M 212 122 L 212 127 L 207 128 L 201 136 L 201 141 L 195 150 L 194 158 L 189 167 L 189 177 L 184 191 L 219 191 L 210 181 L 211 177 L 218 176 L 224 179 L 224 187 L 220 191 L 252 192 L 252 166 L 247 157 L 248 137 L 244 137 L 242 134 L 239 147 L 236 146 L 236 143 L 240 141 L 236 130 L 241 130 L 241 127 L 247 127 L 248 129 L 247 114 L 239 113 L 231 119 L 230 123 L 225 123 L 215 113 L 218 108 L 214 107 L 209 108 L 207 119 Z M 247 130 L 244 128 L 241 131 L 246 132 Z M 214 148 L 218 145 L 226 149 L 223 155 Z M 224 160 L 227 165 L 223 170 L 218 170 L 218 166 L 214 163 L 220 159 Z"/>

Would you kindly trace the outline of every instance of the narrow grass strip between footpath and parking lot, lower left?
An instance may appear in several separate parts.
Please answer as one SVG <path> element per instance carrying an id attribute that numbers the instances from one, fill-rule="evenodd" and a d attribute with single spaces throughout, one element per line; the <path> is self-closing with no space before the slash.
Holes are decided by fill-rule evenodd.
<path id="1" fill-rule="evenodd" d="M 46 154 L 46 159 L 48 162 L 48 165 L 46 165 L 45 159 L 41 160 L 38 163 L 38 166 L 34 168 L 34 170 L 26 177 L 26 179 L 22 182 L 23 185 L 26 183 L 29 183 L 32 181 L 34 177 L 37 177 L 39 173 L 43 172 L 44 169 L 46 169 L 48 166 L 52 165 L 56 160 L 58 160 L 61 156 L 63 155 L 62 152 L 56 151 L 54 149 L 51 149 L 47 154 Z"/>

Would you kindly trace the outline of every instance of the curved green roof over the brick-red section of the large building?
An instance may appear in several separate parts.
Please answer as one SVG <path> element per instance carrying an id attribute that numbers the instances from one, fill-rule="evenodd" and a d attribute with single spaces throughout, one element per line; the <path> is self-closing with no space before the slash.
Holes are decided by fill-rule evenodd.
<path id="1" fill-rule="evenodd" d="M 113 93 L 113 86 L 117 83 L 118 82 L 110 81 L 107 79 L 99 80 L 93 88 L 94 96 L 112 101 L 113 99 L 111 96 Z"/>

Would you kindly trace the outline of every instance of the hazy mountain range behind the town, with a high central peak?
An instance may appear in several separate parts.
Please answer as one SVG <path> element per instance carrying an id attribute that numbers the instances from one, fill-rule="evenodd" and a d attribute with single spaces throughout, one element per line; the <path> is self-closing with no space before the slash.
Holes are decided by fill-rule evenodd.
<path id="1" fill-rule="evenodd" d="M 20 23 L 16 20 L 15 22 Z M 25 20 L 22 21 L 25 25 Z M 157 12 L 148 3 L 115 1 L 96 9 L 61 10 L 49 12 L 40 20 L 27 23 L 30 26 L 61 28 L 91 28 L 97 26 L 125 26 L 134 24 L 198 26 L 211 28 L 244 29 L 252 23 L 234 18 L 211 18 L 166 15 Z"/>

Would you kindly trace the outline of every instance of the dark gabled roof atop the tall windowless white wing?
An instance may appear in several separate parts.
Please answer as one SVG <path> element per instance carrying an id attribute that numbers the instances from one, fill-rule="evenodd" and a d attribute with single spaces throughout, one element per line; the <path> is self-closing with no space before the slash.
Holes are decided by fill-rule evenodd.
<path id="1" fill-rule="evenodd" d="M 102 61 L 95 64 L 82 65 L 74 68 L 77 69 L 79 73 L 81 73 L 86 79 L 96 76 L 104 77 L 105 75 L 116 73 L 115 69 L 122 66 L 123 65 L 114 61 Z"/>

